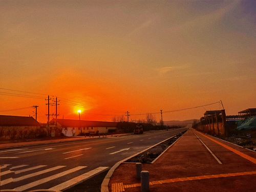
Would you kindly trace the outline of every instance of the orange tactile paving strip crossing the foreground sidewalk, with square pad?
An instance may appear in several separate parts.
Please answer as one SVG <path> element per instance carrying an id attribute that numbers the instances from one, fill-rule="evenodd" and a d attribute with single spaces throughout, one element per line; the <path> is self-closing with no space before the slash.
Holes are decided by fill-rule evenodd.
<path id="1" fill-rule="evenodd" d="M 236 177 L 236 176 L 244 176 L 244 175 L 255 175 L 255 172 L 240 172 L 240 173 L 229 173 L 229 174 L 218 174 L 218 175 L 204 175 L 204 176 L 196 176 L 196 177 L 183 177 L 183 178 L 175 178 L 175 179 L 166 179 L 160 181 L 152 181 L 150 185 L 159 185 L 164 183 L 175 183 L 175 182 L 183 182 L 183 181 L 195 181 L 202 179 L 212 179 L 212 178 L 225 178 L 225 177 Z M 120 192 L 124 191 L 125 188 L 139 187 L 140 183 L 123 185 L 123 183 L 112 183 L 112 192 Z"/>

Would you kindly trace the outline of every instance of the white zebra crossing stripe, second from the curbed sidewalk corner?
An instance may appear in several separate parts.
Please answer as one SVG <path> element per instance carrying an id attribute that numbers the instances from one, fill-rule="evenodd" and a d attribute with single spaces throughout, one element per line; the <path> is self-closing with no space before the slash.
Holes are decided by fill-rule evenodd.
<path id="1" fill-rule="evenodd" d="M 39 180 L 34 181 L 34 182 L 32 182 L 32 183 L 28 183 L 28 184 L 23 185 L 23 186 L 16 187 L 14 190 L 23 191 L 23 190 L 29 189 L 29 188 L 31 188 L 31 187 L 40 185 L 40 184 L 42 184 L 42 183 L 46 183 L 46 182 L 48 182 L 48 181 L 57 179 L 57 178 L 59 178 L 59 177 L 68 175 L 68 174 L 73 173 L 73 172 L 76 172 L 77 170 L 80 170 L 80 169 L 85 168 L 85 167 L 87 167 L 87 166 L 78 166 L 78 167 L 75 167 L 75 168 L 66 170 L 65 172 L 61 172 L 61 173 L 55 174 L 55 175 L 53 175 L 53 176 L 50 176 L 50 177 L 47 177 L 47 178 L 44 178 L 44 179 L 39 179 Z"/>

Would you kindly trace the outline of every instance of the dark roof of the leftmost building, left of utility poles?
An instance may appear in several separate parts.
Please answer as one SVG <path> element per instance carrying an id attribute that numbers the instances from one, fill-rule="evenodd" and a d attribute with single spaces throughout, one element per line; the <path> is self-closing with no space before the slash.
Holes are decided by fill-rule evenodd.
<path id="1" fill-rule="evenodd" d="M 40 126 L 33 117 L 0 115 L 0 126 Z"/>

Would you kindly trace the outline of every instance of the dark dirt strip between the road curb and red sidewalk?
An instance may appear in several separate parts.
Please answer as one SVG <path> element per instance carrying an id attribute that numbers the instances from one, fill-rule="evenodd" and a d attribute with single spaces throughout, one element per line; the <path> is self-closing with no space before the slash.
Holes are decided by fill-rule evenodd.
<path id="1" fill-rule="evenodd" d="M 154 161 L 161 153 L 163 153 L 166 148 L 172 145 L 177 139 L 179 139 L 186 131 L 150 148 L 149 150 L 136 155 L 135 157 L 126 160 L 125 162 L 133 163 L 151 163 Z"/>

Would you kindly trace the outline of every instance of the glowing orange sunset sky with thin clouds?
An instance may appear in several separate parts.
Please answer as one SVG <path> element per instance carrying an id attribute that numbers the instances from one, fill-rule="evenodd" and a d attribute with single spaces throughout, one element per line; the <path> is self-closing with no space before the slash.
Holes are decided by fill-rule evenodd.
<path id="1" fill-rule="evenodd" d="M 46 122 L 48 95 L 60 100 L 58 118 L 78 119 L 80 108 L 81 119 L 102 121 L 127 111 L 159 121 L 160 110 L 163 120 L 200 119 L 221 104 L 169 111 L 220 100 L 227 115 L 256 108 L 255 10 L 254 1 L 1 1 L 0 114 L 34 116 L 38 105 Z"/>

